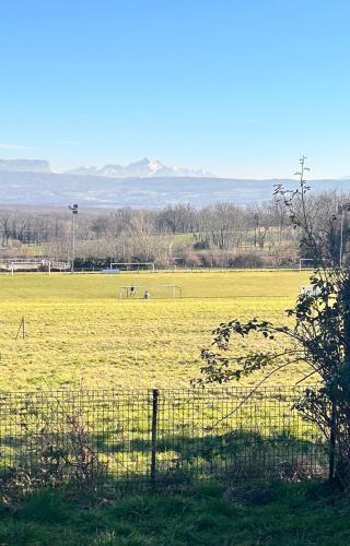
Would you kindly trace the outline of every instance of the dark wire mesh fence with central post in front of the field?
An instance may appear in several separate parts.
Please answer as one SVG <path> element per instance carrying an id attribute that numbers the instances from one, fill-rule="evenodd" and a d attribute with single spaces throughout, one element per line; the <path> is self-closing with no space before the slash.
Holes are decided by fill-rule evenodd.
<path id="1" fill-rule="evenodd" d="M 327 471 L 298 389 L 0 394 L 0 485 L 136 488 Z"/>

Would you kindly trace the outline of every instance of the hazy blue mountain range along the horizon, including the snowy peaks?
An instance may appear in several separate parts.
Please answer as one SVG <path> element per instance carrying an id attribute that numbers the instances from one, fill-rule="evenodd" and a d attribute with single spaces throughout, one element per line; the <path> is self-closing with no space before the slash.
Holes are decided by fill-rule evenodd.
<path id="1" fill-rule="evenodd" d="M 124 174 L 116 176 L 118 168 Z M 161 174 L 162 169 L 164 174 Z M 278 183 L 287 188 L 295 188 L 298 183 L 290 179 L 215 178 L 209 174 L 200 176 L 201 171 L 191 176 L 179 174 L 185 171 L 187 169 L 164 167 L 154 159 L 142 159 L 128 167 L 106 165 L 96 170 L 74 169 L 59 174 L 52 173 L 48 162 L 44 161 L 0 159 L 0 205 L 66 207 L 79 203 L 90 207 L 156 209 L 174 203 L 190 203 L 198 207 L 222 201 L 244 205 L 271 199 Z M 313 191 L 350 193 L 350 177 L 311 180 L 310 186 Z"/>

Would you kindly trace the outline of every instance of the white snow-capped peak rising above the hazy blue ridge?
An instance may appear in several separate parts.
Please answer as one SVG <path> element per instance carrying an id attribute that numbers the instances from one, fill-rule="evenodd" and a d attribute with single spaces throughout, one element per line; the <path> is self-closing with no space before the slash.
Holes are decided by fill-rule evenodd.
<path id="1" fill-rule="evenodd" d="M 183 167 L 167 167 L 159 159 L 150 159 L 144 157 L 140 162 L 130 163 L 126 167 L 121 165 L 105 165 L 102 168 L 97 167 L 79 167 L 67 170 L 67 175 L 91 175 L 104 176 L 108 178 L 149 178 L 149 177 L 210 177 L 212 176 L 207 170 L 191 169 Z"/>

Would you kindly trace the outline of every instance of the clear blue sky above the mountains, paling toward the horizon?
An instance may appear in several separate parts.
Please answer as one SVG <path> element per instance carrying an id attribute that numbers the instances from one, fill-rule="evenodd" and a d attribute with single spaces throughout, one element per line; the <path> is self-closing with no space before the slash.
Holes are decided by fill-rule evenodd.
<path id="1" fill-rule="evenodd" d="M 3 0 L 0 157 L 350 175 L 348 0 Z"/>

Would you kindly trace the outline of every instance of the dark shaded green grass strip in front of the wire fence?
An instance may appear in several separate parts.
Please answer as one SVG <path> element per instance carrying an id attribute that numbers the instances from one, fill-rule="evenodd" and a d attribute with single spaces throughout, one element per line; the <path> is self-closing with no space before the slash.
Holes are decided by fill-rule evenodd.
<path id="1" fill-rule="evenodd" d="M 349 515 L 349 499 L 316 483 L 233 489 L 231 500 L 213 484 L 113 501 L 45 491 L 2 509 L 0 544 L 346 546 Z"/>

